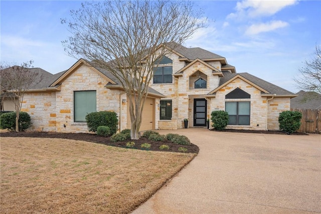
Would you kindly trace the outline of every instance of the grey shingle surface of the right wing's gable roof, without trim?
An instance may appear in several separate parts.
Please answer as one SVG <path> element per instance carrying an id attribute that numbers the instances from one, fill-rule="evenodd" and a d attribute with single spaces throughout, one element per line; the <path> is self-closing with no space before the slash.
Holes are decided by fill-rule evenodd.
<path id="1" fill-rule="evenodd" d="M 270 82 L 267 82 L 263 79 L 260 79 L 256 76 L 253 76 L 249 73 L 230 73 L 227 71 L 223 71 L 224 77 L 222 77 L 220 79 L 220 85 L 224 84 L 225 82 L 229 81 L 230 79 L 232 79 L 233 77 L 235 77 L 236 75 L 240 75 L 242 77 L 244 77 L 245 79 L 249 80 L 250 82 L 256 84 L 257 86 L 265 89 L 266 91 L 268 91 L 271 94 L 277 94 L 277 95 L 294 95 L 294 93 L 285 90 L 284 88 L 281 88 L 277 85 L 274 85 Z"/>

